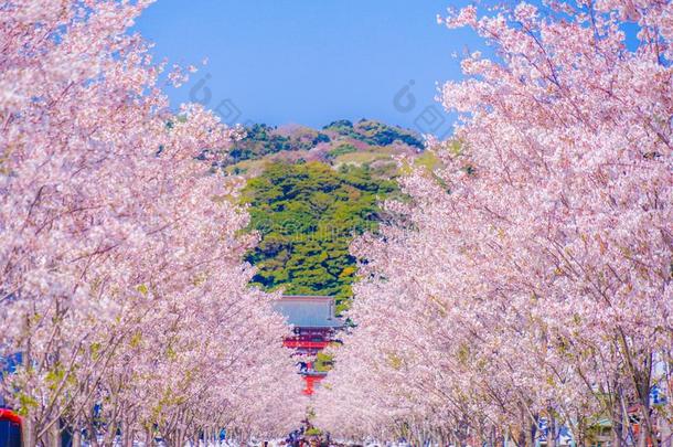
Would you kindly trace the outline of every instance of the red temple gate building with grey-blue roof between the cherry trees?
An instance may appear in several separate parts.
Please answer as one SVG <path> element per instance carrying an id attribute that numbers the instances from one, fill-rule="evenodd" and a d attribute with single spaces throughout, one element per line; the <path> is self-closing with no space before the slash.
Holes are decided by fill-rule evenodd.
<path id="1" fill-rule="evenodd" d="M 292 326 L 293 336 L 285 339 L 284 344 L 295 349 L 298 356 L 311 359 L 299 362 L 300 374 L 306 381 L 303 393 L 311 395 L 318 382 L 327 375 L 324 371 L 316 371 L 316 355 L 338 341 L 336 331 L 343 327 L 343 321 L 334 315 L 334 298 L 286 295 L 275 302 L 275 308 Z"/>

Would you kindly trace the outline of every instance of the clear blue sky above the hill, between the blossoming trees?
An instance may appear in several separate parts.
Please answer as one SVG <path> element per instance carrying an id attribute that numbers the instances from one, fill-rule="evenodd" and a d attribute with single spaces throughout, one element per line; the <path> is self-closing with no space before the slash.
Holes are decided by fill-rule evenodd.
<path id="1" fill-rule="evenodd" d="M 366 117 L 444 134 L 451 117 L 435 114 L 436 82 L 461 77 L 452 52 L 483 47 L 470 31 L 437 24 L 459 1 L 158 0 L 136 28 L 160 57 L 210 61 L 169 91 L 173 105 L 192 97 L 220 106 L 225 121 L 319 127 Z M 409 81 L 415 103 L 400 95 L 395 106 Z"/>

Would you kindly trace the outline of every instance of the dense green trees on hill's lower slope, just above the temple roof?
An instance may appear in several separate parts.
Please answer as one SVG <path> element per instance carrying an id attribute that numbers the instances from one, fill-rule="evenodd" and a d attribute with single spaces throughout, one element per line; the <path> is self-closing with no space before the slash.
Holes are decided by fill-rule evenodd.
<path id="1" fill-rule="evenodd" d="M 349 245 L 375 231 L 378 202 L 396 183 L 376 179 L 367 167 L 333 170 L 320 162 L 271 163 L 243 191 L 258 246 L 247 260 L 258 267 L 254 284 L 287 294 L 333 295 L 346 306 L 356 263 Z"/>

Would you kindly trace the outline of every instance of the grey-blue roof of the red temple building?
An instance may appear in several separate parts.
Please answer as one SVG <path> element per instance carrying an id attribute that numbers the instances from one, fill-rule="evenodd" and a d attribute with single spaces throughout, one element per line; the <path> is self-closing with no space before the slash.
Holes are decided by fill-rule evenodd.
<path id="1" fill-rule="evenodd" d="M 334 298 L 313 295 L 285 295 L 274 302 L 276 311 L 298 328 L 340 328 L 343 321 L 334 316 Z"/>

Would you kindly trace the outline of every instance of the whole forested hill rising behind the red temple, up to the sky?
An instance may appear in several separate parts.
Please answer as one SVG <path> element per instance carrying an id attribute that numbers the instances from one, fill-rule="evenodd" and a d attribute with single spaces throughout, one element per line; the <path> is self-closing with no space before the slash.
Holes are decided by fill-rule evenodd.
<path id="1" fill-rule="evenodd" d="M 255 125 L 231 148 L 227 171 L 248 178 L 243 201 L 260 235 L 247 260 L 253 284 L 288 294 L 332 295 L 348 306 L 356 275 L 353 237 L 376 231 L 381 201 L 397 191 L 395 156 L 432 162 L 420 137 L 378 121 L 320 130 Z"/>

